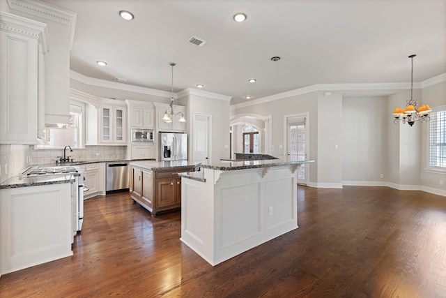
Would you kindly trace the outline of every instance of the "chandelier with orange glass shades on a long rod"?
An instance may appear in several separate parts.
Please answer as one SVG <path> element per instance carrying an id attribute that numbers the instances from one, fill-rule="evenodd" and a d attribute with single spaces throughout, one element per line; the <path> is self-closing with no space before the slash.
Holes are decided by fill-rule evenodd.
<path id="1" fill-rule="evenodd" d="M 401 107 L 397 107 L 393 111 L 393 115 L 395 117 L 393 123 L 398 123 L 399 121 L 404 123 L 408 123 L 410 126 L 415 124 L 415 121 L 428 122 L 431 121 L 431 117 L 429 117 L 429 112 L 431 112 L 431 107 L 429 105 L 422 105 L 418 107 L 418 101 L 413 99 L 413 57 L 417 55 L 410 55 L 409 58 L 412 61 L 412 68 L 410 70 L 410 99 L 406 101 L 406 108 L 401 109 Z"/>

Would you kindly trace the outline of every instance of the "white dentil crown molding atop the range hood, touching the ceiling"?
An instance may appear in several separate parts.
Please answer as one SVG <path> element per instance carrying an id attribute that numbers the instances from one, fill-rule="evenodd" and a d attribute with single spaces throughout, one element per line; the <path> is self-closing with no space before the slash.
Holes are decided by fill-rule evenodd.
<path id="1" fill-rule="evenodd" d="M 75 39 L 77 13 L 44 1 L 35 0 L 8 0 L 8 6 L 10 10 L 20 11 L 70 27 L 70 49 L 72 48 Z"/>

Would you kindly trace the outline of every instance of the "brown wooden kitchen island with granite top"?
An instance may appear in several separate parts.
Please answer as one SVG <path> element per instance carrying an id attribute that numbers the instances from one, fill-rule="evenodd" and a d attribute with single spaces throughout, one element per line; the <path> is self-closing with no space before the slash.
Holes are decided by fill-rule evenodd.
<path id="1" fill-rule="evenodd" d="M 134 161 L 130 166 L 132 200 L 156 216 L 181 207 L 178 173 L 192 172 L 198 165 L 188 161 Z"/>

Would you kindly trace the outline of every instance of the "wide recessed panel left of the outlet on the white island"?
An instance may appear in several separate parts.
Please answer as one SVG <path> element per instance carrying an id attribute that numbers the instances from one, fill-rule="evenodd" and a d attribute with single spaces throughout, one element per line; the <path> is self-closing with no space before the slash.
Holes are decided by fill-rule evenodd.
<path id="1" fill-rule="evenodd" d="M 261 230 L 260 184 L 220 191 L 220 249 L 256 236 Z"/>

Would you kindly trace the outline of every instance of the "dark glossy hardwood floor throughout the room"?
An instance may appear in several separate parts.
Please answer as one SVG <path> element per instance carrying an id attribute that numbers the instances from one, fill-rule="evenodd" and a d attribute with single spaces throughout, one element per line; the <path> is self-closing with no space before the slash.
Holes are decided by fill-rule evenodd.
<path id="1" fill-rule="evenodd" d="M 299 186 L 297 230 L 215 267 L 179 211 L 115 193 L 85 214 L 72 257 L 1 276 L 0 297 L 446 297 L 446 198 L 421 191 Z"/>

